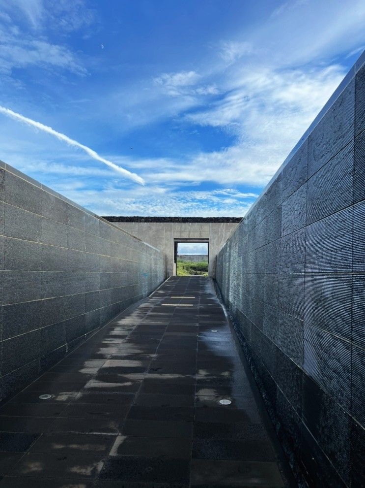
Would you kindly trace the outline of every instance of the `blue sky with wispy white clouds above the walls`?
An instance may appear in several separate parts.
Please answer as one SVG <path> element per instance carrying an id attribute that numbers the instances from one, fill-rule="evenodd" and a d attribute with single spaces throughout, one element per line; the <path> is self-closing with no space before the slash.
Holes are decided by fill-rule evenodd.
<path id="1" fill-rule="evenodd" d="M 362 0 L 0 0 L 0 159 L 99 215 L 243 216 L 364 25 Z"/>

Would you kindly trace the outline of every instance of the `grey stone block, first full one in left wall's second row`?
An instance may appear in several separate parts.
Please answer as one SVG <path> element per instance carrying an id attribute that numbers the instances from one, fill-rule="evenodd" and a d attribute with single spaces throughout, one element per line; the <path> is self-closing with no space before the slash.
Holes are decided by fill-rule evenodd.
<path id="1" fill-rule="evenodd" d="M 5 204 L 4 233 L 8 237 L 39 242 L 42 218 L 22 208 Z"/>

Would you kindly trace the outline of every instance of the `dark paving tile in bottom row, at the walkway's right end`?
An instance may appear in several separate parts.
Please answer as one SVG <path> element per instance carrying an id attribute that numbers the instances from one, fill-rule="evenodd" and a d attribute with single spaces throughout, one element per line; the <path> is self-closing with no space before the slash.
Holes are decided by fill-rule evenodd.
<path id="1" fill-rule="evenodd" d="M 283 487 L 275 462 L 221 461 L 193 459 L 191 486 L 208 487 Z"/>

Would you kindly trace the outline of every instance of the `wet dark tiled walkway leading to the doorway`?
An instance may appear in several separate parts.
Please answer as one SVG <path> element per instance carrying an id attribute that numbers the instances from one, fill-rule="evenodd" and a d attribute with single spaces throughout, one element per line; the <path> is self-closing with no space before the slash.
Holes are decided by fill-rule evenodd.
<path id="1" fill-rule="evenodd" d="M 170 278 L 2 406 L 0 450 L 0 488 L 286 486 L 203 277 Z"/>

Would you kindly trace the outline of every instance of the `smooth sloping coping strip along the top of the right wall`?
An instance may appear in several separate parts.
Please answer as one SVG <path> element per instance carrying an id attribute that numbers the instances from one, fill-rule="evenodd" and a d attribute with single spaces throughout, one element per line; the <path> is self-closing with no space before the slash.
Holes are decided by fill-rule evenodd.
<path id="1" fill-rule="evenodd" d="M 331 95 L 331 97 L 327 100 L 323 108 L 320 110 L 318 115 L 315 117 L 313 122 L 310 124 L 309 128 L 304 132 L 302 137 L 299 139 L 299 141 L 296 143 L 296 145 L 293 147 L 293 149 L 290 151 L 290 153 L 287 155 L 287 157 L 284 159 L 283 163 L 279 166 L 277 171 L 274 173 L 270 181 L 267 183 L 267 185 L 264 187 L 264 189 L 261 191 L 260 195 L 256 198 L 256 200 L 253 202 L 251 205 L 250 209 L 248 210 L 247 214 L 251 212 L 253 207 L 258 203 L 258 201 L 261 199 L 261 197 L 266 193 L 270 185 L 276 180 L 276 178 L 279 176 L 283 168 L 286 166 L 287 163 L 291 160 L 291 158 L 294 156 L 294 154 L 300 149 L 300 147 L 303 145 L 303 143 L 307 140 L 309 134 L 314 130 L 314 128 L 319 124 L 319 122 L 323 119 L 325 114 L 328 112 L 328 110 L 331 108 L 335 100 L 341 95 L 341 93 L 345 90 L 345 88 L 349 85 L 349 83 L 355 78 L 357 72 L 363 67 L 365 64 L 365 50 L 363 53 L 360 55 L 358 60 L 355 62 L 355 64 L 350 68 L 348 73 L 345 75 L 343 80 L 340 82 L 334 93 Z M 246 215 L 247 215 L 246 214 Z M 246 217 L 246 216 L 245 216 Z M 245 218 L 244 217 L 244 218 Z"/>

